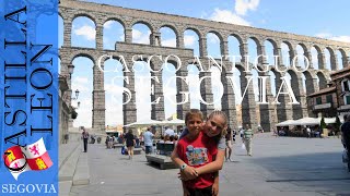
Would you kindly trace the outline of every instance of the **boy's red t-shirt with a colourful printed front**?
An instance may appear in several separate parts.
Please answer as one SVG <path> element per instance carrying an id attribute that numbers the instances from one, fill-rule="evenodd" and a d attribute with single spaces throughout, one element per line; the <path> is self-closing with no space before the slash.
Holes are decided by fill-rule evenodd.
<path id="1" fill-rule="evenodd" d="M 215 144 L 214 139 L 199 132 L 196 139 L 183 137 L 177 143 L 176 151 L 178 157 L 188 166 L 199 168 L 212 162 L 213 156 L 218 154 L 218 144 Z M 205 188 L 213 183 L 213 173 L 201 174 L 195 180 L 185 181 L 185 185 L 188 188 Z"/>

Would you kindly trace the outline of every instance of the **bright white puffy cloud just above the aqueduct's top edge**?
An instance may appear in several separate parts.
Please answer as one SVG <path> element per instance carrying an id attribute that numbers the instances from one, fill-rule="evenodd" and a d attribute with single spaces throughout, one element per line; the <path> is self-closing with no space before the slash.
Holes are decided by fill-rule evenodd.
<path id="1" fill-rule="evenodd" d="M 237 24 L 237 25 L 244 25 L 244 26 L 250 26 L 249 22 L 245 21 L 244 19 L 242 19 L 237 14 L 231 12 L 230 10 L 220 10 L 218 8 L 211 14 L 209 20 L 224 22 L 224 23 L 231 23 L 231 24 Z"/>

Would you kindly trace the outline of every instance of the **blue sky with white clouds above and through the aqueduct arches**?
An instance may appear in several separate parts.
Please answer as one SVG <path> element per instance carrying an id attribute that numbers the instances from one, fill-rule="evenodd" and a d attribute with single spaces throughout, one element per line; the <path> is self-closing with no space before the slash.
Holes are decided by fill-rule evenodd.
<path id="1" fill-rule="evenodd" d="M 185 15 L 190 17 L 199 17 L 211 21 L 221 21 L 226 23 L 234 23 L 247 25 L 258 28 L 266 28 L 271 30 L 287 32 L 299 35 L 315 36 L 341 41 L 350 42 L 350 25 L 349 16 L 346 15 L 350 8 L 350 2 L 346 0 L 330 1 L 316 1 L 316 0 L 294 0 L 294 1 L 272 1 L 272 0 L 177 0 L 177 1 L 154 1 L 154 0 L 89 0 L 91 2 L 98 2 L 124 8 L 148 10 L 154 12 L 163 12 L 170 14 Z M 137 42 L 147 41 L 148 29 L 138 25 L 135 26 L 133 36 L 137 37 Z M 174 36 L 168 29 L 161 29 L 162 44 L 166 46 L 174 45 Z M 122 40 L 122 29 L 117 23 L 105 24 L 104 30 L 104 46 L 105 48 L 113 49 L 115 41 Z M 164 36 L 163 36 L 164 35 Z M 164 40 L 163 40 L 164 38 Z M 215 56 L 219 51 L 219 45 L 214 36 L 209 38 L 208 46 L 209 53 Z M 86 19 L 77 19 L 73 22 L 72 29 L 72 44 L 74 46 L 94 47 L 94 27 L 93 23 Z M 191 48 L 196 42 L 196 37 L 191 32 L 185 32 L 185 46 Z M 233 42 L 233 45 L 236 45 Z M 350 45 L 350 44 L 349 44 Z M 194 48 L 195 49 L 195 48 Z M 269 49 L 269 47 L 267 47 Z M 195 53 L 198 52 L 195 49 Z M 92 110 L 92 62 L 86 59 L 75 59 L 73 64 L 75 71 L 73 74 L 72 89 L 80 89 L 81 108 L 79 109 L 79 117 L 74 125 L 91 126 L 91 110 Z M 117 65 L 116 62 L 106 62 L 106 70 L 114 70 Z M 141 65 L 140 65 L 141 66 Z M 171 66 L 170 66 L 171 68 Z M 194 81 L 198 81 L 198 71 L 196 69 L 190 71 Z M 148 72 L 138 72 L 137 75 L 147 76 Z M 174 75 L 174 70 L 164 71 L 163 82 Z M 121 87 L 122 81 L 116 81 L 116 85 L 112 85 L 113 77 L 121 76 L 120 73 L 109 72 L 105 74 L 105 89 L 106 89 L 106 124 L 122 124 L 121 115 L 121 96 L 117 96 Z M 107 82 L 109 81 L 109 82 Z M 137 100 L 142 100 L 137 105 L 138 118 L 148 119 L 150 117 L 150 105 L 148 103 L 149 96 L 148 89 L 150 86 L 144 86 L 145 83 L 137 83 Z M 220 87 L 220 84 L 213 84 L 214 87 Z M 170 97 L 175 94 L 175 84 L 171 84 L 164 94 Z M 196 97 L 196 87 L 189 84 L 189 89 L 192 93 L 191 107 L 198 108 L 199 100 Z M 214 88 L 220 90 L 220 88 Z M 255 89 L 257 90 L 257 89 Z M 114 97 L 113 97 L 114 96 Z M 240 96 L 236 93 L 236 96 Z M 214 93 L 214 97 L 220 97 L 220 93 Z M 236 97 L 237 98 L 237 97 Z M 219 107 L 219 102 L 215 107 Z M 219 107 L 220 108 L 220 107 Z M 175 113 L 176 108 L 165 99 L 165 115 L 170 117 Z"/>

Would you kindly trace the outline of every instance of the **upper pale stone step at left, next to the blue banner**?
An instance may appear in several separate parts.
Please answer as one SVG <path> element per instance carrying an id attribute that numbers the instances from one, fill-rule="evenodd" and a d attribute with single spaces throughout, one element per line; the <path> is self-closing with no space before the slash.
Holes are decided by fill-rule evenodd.
<path id="1" fill-rule="evenodd" d="M 73 181 L 78 159 L 80 154 L 82 152 L 81 145 L 73 150 L 71 156 L 67 159 L 67 161 L 62 164 L 59 170 L 59 181 Z"/>

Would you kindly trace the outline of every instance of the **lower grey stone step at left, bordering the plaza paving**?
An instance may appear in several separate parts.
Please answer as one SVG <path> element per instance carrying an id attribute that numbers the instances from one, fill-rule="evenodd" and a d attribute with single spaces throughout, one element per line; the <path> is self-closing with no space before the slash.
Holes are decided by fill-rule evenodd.
<path id="1" fill-rule="evenodd" d="M 81 152 L 77 169 L 73 176 L 73 186 L 77 185 L 86 185 L 90 183 L 90 172 L 88 163 L 88 154 Z"/>

